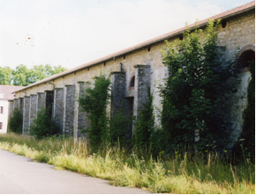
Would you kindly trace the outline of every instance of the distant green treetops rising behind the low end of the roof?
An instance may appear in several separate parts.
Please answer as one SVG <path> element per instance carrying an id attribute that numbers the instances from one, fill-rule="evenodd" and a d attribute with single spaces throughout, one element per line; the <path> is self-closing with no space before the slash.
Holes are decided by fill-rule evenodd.
<path id="1" fill-rule="evenodd" d="M 52 68 L 49 64 L 34 66 L 33 69 L 27 69 L 23 64 L 20 64 L 15 70 L 9 67 L 0 67 L 0 84 L 26 86 L 64 70 L 66 69 L 61 66 Z"/>

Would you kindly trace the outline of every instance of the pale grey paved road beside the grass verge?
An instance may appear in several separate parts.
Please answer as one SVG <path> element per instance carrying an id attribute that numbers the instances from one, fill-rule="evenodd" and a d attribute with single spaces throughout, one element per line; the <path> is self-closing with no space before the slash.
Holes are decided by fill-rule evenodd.
<path id="1" fill-rule="evenodd" d="M 108 181 L 80 175 L 0 149 L 0 194 L 30 193 L 149 193 L 137 188 L 115 187 Z"/>

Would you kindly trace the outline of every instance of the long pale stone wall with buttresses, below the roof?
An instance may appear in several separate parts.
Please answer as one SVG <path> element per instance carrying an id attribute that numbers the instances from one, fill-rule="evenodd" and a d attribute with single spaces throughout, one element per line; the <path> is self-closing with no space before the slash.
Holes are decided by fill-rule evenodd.
<path id="1" fill-rule="evenodd" d="M 255 13 L 254 11 L 247 11 L 243 14 L 235 17 L 225 19 L 227 25 L 220 26 L 219 38 L 220 46 L 228 46 L 226 58 L 229 59 L 231 55 L 236 51 L 237 47 L 254 46 L 255 47 Z M 169 38 L 169 42 L 176 40 L 178 37 Z M 157 86 L 164 82 L 164 78 L 167 76 L 167 68 L 162 64 L 162 54 L 160 50 L 165 46 L 164 41 L 152 43 L 150 47 L 142 47 L 134 49 L 124 55 L 119 55 L 108 61 L 102 61 L 95 63 L 94 66 L 79 69 L 74 73 L 70 73 L 64 76 L 56 77 L 51 80 L 54 83 L 54 100 L 52 109 L 52 118 L 55 123 L 60 127 L 60 134 L 72 135 L 78 139 L 80 129 L 85 129 L 89 126 L 90 121 L 87 120 L 87 113 L 79 110 L 77 99 L 79 95 L 83 93 L 83 89 L 86 87 L 86 83 L 91 81 L 94 76 L 98 75 L 99 69 L 101 69 L 106 75 L 113 73 L 112 75 L 112 101 L 111 101 L 111 116 L 120 110 L 124 101 L 125 104 L 130 104 L 134 116 L 139 117 L 139 109 L 143 103 L 147 103 L 147 86 L 150 87 L 151 92 L 154 92 L 153 104 L 162 109 L 162 99 L 159 96 Z M 139 64 L 139 65 L 136 65 Z M 134 66 L 136 65 L 136 66 Z M 244 74 L 244 73 L 243 73 Z M 243 75 L 239 75 L 240 77 Z M 241 112 L 245 108 L 246 94 L 245 88 L 248 84 L 249 73 L 245 73 L 241 78 L 243 80 L 242 90 L 238 92 L 237 97 L 230 103 L 230 112 L 233 117 L 230 117 L 236 131 L 231 136 L 236 140 L 237 135 L 242 129 L 242 115 Z M 134 87 L 130 87 L 132 76 L 135 76 Z M 80 82 L 83 81 L 83 82 Z M 78 83 L 79 82 L 79 83 Z M 27 105 L 27 101 L 33 100 L 33 94 L 37 94 L 38 105 L 37 111 L 41 110 L 46 105 L 46 90 L 53 90 L 52 84 L 41 83 L 31 88 L 26 88 L 27 97 L 24 97 L 24 93 L 17 92 L 16 98 L 23 98 L 24 104 L 24 133 L 25 129 L 28 129 L 27 116 L 33 116 L 34 108 L 32 105 Z M 128 105 L 129 105 L 128 104 Z M 12 106 L 12 105 L 11 105 Z M 15 107 L 15 100 L 13 103 Z M 30 111 L 31 107 L 31 111 Z M 10 107 L 11 109 L 11 107 Z M 31 112 L 31 113 L 30 113 Z M 156 113 L 154 111 L 154 113 Z M 159 120 L 155 120 L 159 125 Z M 85 135 L 83 135 L 85 136 Z"/>

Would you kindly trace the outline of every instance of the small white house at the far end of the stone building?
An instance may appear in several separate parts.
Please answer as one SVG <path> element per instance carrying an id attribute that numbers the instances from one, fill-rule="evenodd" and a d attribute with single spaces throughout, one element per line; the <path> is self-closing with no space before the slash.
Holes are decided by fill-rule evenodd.
<path id="1" fill-rule="evenodd" d="M 8 125 L 9 102 L 13 100 L 15 90 L 23 88 L 22 86 L 0 85 L 0 134 L 6 134 Z"/>

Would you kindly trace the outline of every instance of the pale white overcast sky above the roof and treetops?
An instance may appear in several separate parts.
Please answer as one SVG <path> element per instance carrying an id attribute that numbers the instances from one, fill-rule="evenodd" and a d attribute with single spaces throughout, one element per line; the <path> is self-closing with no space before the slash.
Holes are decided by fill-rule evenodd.
<path id="1" fill-rule="evenodd" d="M 0 67 L 72 69 L 252 0 L 0 0 Z"/>

